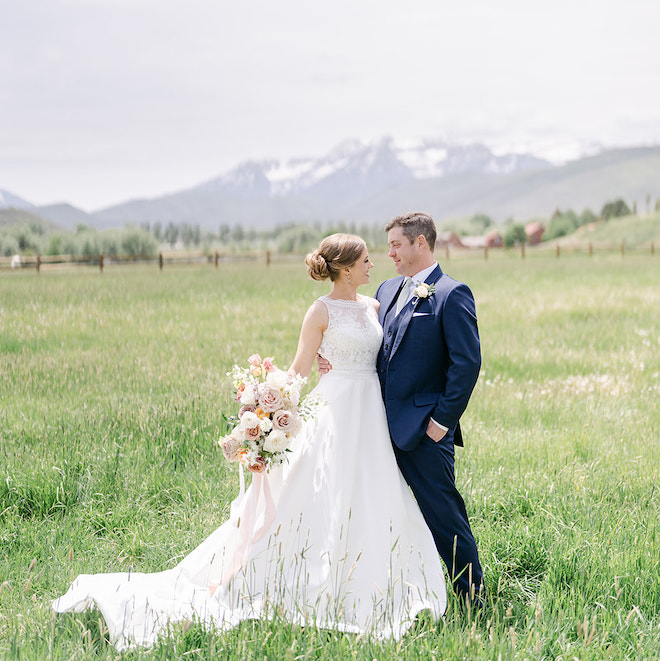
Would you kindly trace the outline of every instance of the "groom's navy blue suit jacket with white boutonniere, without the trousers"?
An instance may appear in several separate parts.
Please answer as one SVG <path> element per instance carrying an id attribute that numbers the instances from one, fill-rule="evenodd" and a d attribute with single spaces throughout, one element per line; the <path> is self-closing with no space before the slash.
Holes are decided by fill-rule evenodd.
<path id="1" fill-rule="evenodd" d="M 435 292 L 411 299 L 396 315 L 403 280 L 386 280 L 376 292 L 383 326 L 377 369 L 392 440 L 414 449 L 433 418 L 463 445 L 459 419 L 481 367 L 472 292 L 438 266 L 426 279 Z"/>

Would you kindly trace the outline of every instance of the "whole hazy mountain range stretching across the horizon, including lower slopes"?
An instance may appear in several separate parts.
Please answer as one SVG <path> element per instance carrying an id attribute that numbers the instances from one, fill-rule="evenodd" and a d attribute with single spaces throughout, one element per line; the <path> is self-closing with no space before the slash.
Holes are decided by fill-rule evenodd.
<path id="1" fill-rule="evenodd" d="M 632 206 L 660 197 L 660 146 L 603 150 L 564 165 L 532 154 L 495 154 L 442 140 L 345 141 L 319 158 L 244 161 L 192 188 L 135 199 L 93 213 L 69 204 L 34 207 L 67 229 L 160 222 L 217 231 L 288 223 L 383 222 L 428 211 L 437 222 L 485 213 L 495 221 L 549 217 L 557 208 L 598 212 L 621 197 Z M 3 197 L 3 193 L 5 196 Z M 2 200 L 11 195 L 0 191 Z"/>

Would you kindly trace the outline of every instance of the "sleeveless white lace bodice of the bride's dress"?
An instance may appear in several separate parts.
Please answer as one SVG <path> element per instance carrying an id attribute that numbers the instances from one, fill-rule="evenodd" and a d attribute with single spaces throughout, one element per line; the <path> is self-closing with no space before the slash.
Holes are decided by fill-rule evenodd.
<path id="1" fill-rule="evenodd" d="M 374 371 L 383 340 L 374 299 L 359 301 L 319 299 L 328 308 L 328 328 L 323 333 L 319 353 L 332 363 L 333 370 Z"/>

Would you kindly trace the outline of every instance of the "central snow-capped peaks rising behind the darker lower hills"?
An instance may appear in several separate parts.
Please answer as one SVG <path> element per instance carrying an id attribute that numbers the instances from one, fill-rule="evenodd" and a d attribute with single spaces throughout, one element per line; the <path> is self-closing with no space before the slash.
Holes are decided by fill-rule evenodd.
<path id="1" fill-rule="evenodd" d="M 480 144 L 349 140 L 320 158 L 246 161 L 199 190 L 240 197 L 314 194 L 346 199 L 413 179 L 472 172 L 509 174 L 546 167 L 550 163 L 535 156 L 495 155 Z"/>

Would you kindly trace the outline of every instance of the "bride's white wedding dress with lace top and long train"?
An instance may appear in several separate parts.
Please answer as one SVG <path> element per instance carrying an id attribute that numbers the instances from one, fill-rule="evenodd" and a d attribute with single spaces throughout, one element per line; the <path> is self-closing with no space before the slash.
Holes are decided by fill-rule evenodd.
<path id="1" fill-rule="evenodd" d="M 319 352 L 333 369 L 314 392 L 327 404 L 289 462 L 253 476 L 229 520 L 176 567 L 80 575 L 56 611 L 97 607 L 119 650 L 153 644 L 176 622 L 222 630 L 277 618 L 399 638 L 420 611 L 443 615 L 441 560 L 387 429 L 375 301 L 321 300 Z"/>

